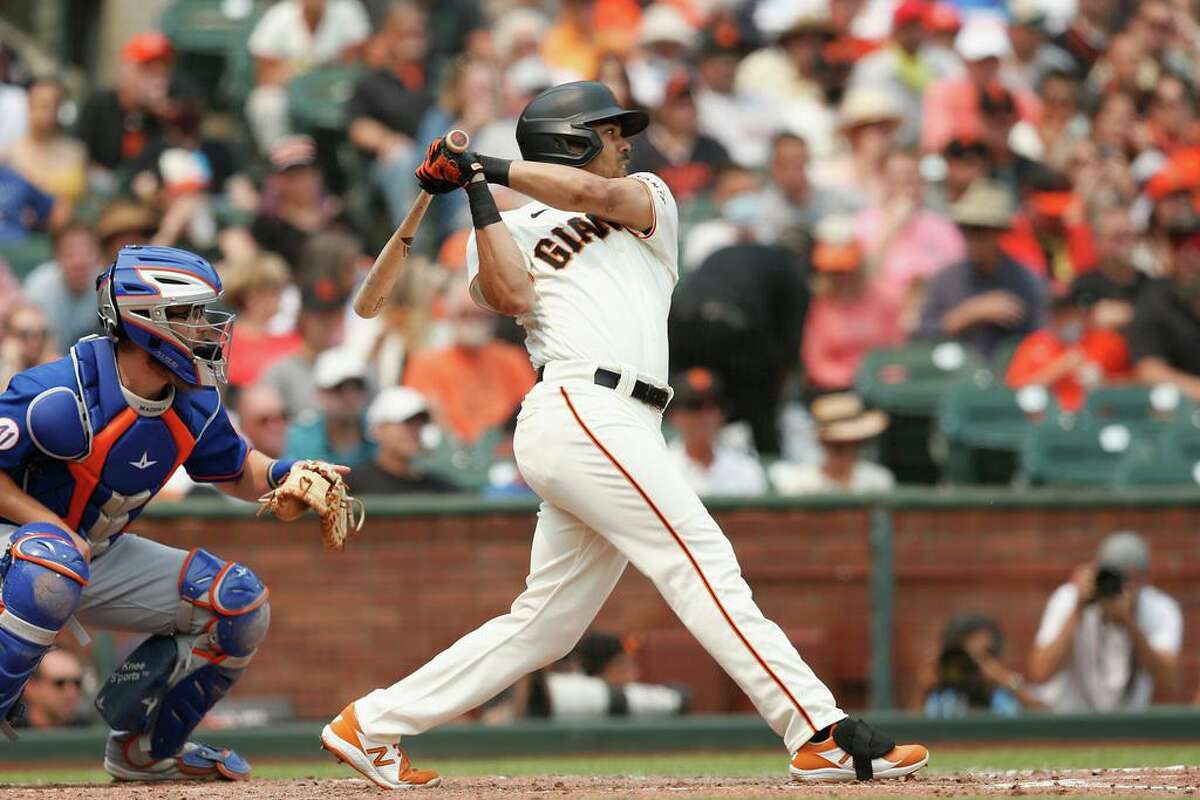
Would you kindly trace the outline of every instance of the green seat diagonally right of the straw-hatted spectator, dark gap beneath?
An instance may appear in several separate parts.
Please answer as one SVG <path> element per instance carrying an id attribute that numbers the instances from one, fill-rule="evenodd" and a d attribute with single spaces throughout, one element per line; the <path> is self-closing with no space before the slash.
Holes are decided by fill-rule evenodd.
<path id="1" fill-rule="evenodd" d="M 938 405 L 946 439 L 946 477 L 955 483 L 1006 483 L 1030 431 L 1058 414 L 1042 386 L 1014 391 L 990 373 L 952 385 Z"/>

